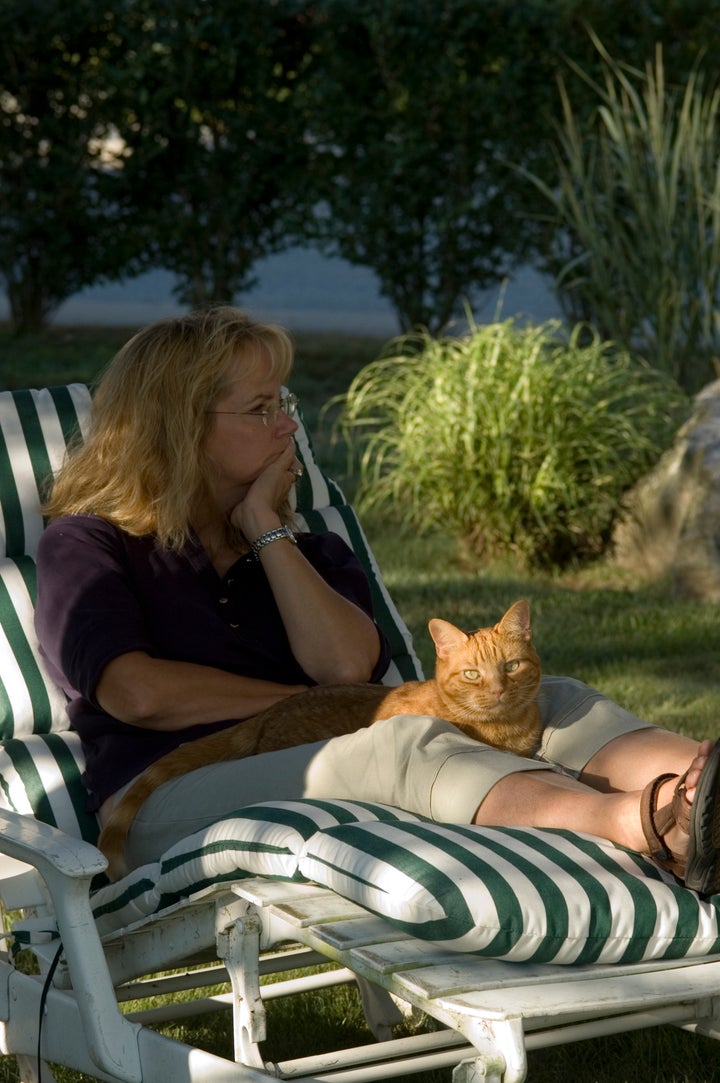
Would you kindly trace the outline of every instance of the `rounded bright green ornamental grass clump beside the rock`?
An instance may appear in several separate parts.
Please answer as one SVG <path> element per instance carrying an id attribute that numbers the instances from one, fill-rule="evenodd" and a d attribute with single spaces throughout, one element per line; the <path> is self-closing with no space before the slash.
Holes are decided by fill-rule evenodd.
<path id="1" fill-rule="evenodd" d="M 602 551 L 688 407 L 587 327 L 509 319 L 395 340 L 357 374 L 339 425 L 365 510 L 449 529 L 485 558 L 562 566 Z"/>

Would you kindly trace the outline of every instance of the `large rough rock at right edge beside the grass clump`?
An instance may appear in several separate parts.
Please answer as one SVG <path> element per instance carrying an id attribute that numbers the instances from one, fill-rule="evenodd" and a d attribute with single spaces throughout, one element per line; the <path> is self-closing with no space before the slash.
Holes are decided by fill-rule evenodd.
<path id="1" fill-rule="evenodd" d="M 613 536 L 617 564 L 668 578 L 676 593 L 720 602 L 720 380 L 657 467 L 624 500 Z"/>

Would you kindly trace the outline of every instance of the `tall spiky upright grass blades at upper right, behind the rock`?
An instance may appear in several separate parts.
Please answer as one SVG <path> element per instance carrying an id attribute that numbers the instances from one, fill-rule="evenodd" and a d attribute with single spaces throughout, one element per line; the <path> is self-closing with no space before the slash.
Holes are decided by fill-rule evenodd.
<path id="1" fill-rule="evenodd" d="M 562 88 L 547 262 L 571 318 L 693 393 L 720 353 L 720 91 L 698 71 L 668 87 L 659 50 L 644 74 L 604 56 L 590 131 Z"/>

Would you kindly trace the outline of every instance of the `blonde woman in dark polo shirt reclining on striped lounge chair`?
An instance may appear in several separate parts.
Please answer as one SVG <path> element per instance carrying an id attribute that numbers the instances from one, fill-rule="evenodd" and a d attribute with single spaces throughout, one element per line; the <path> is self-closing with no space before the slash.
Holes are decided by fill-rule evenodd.
<path id="1" fill-rule="evenodd" d="M 176 745 L 311 684 L 377 681 L 387 668 L 354 554 L 332 534 L 290 529 L 291 362 L 280 328 L 233 308 L 150 325 L 110 363 L 88 440 L 54 484 L 37 629 L 101 821 Z M 145 801 L 129 860 L 155 860 L 253 801 L 351 797 L 602 834 L 697 890 L 719 888 L 720 745 L 651 727 L 570 679 L 547 679 L 540 707 L 537 760 L 418 717 L 200 768 Z"/>

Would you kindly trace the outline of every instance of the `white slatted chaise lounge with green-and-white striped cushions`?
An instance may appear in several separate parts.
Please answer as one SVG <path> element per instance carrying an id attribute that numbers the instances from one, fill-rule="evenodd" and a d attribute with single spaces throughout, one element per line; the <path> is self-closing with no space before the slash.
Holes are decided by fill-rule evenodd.
<path id="1" fill-rule="evenodd" d="M 361 1083 L 442 1067 L 454 1083 L 519 1083 L 526 1051 L 546 1045 L 665 1022 L 720 1036 L 720 896 L 589 835 L 273 801 L 107 883 L 79 739 L 32 626 L 39 491 L 89 407 L 81 384 L 0 393 L 0 1049 L 23 1083 L 50 1083 L 54 1064 L 109 1083 Z M 353 509 L 302 427 L 297 440 L 300 522 L 338 531 L 363 560 L 388 682 L 422 677 Z M 318 962 L 332 967 L 297 977 Z M 286 969 L 273 993 L 357 981 L 376 1041 L 267 1064 L 261 979 Z M 220 981 L 230 992 L 210 995 Z M 180 990 L 189 1005 L 122 1010 Z M 407 1006 L 438 1026 L 394 1038 Z M 232 1013 L 232 1058 L 156 1029 L 217 1009 Z"/>

